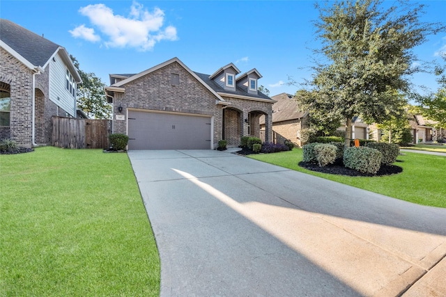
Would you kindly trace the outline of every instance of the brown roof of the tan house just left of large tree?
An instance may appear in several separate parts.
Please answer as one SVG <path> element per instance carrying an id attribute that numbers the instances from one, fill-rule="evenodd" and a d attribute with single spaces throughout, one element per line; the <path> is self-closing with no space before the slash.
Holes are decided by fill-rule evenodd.
<path id="1" fill-rule="evenodd" d="M 307 111 L 300 111 L 298 102 L 295 101 L 293 95 L 282 93 L 274 95 L 271 99 L 277 102 L 272 105 L 272 122 L 283 122 L 286 120 L 297 120 L 305 118 Z M 262 122 L 263 121 L 263 122 Z M 261 118 L 260 124 L 263 125 L 265 120 Z"/>

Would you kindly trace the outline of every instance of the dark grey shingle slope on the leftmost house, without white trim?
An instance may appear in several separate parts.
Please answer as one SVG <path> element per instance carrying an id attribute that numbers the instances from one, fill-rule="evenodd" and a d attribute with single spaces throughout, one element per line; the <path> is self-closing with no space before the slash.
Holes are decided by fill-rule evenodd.
<path id="1" fill-rule="evenodd" d="M 0 39 L 35 66 L 44 66 L 59 45 L 19 26 L 0 19 Z"/>

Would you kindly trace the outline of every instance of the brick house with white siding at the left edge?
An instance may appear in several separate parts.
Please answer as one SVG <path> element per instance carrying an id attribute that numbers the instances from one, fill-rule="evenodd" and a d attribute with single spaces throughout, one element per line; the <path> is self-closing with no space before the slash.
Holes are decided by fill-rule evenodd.
<path id="1" fill-rule="evenodd" d="M 80 82 L 66 49 L 0 19 L 0 140 L 51 143 L 52 116 L 77 116 Z"/>

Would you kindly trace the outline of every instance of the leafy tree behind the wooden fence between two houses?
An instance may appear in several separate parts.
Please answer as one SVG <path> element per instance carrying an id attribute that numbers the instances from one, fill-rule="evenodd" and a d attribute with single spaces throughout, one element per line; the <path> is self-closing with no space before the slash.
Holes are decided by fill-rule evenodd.
<path id="1" fill-rule="evenodd" d="M 77 59 L 73 56 L 70 58 L 82 78 L 82 83 L 77 87 L 77 108 L 82 109 L 89 118 L 112 118 L 112 106 L 105 96 L 105 83 L 102 83 L 93 72 L 87 73 L 80 70 Z"/>

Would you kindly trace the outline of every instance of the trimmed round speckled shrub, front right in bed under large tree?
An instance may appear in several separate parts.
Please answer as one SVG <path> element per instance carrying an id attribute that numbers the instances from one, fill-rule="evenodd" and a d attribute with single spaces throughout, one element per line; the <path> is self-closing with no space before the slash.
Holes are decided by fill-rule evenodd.
<path id="1" fill-rule="evenodd" d="M 374 175 L 381 166 L 382 156 L 371 147 L 348 147 L 344 150 L 344 166 Z"/>

